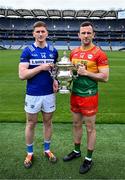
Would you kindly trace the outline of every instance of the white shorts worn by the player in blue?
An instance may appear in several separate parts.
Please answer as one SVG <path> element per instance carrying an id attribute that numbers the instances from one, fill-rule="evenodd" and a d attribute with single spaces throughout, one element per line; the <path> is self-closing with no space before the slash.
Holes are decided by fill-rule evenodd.
<path id="1" fill-rule="evenodd" d="M 46 96 L 30 96 L 26 94 L 25 97 L 25 111 L 27 113 L 53 112 L 56 109 L 55 94 Z"/>

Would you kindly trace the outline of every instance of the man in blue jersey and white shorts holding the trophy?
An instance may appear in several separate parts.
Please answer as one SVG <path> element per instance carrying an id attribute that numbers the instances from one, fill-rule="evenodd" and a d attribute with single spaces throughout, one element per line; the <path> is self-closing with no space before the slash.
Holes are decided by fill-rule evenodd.
<path id="1" fill-rule="evenodd" d="M 27 80 L 25 97 L 27 155 L 24 161 L 26 168 L 30 168 L 33 163 L 33 138 L 39 112 L 43 118 L 44 155 L 51 162 L 57 161 L 56 156 L 50 151 L 50 142 L 58 82 L 53 80 L 50 71 L 56 63 L 58 52 L 47 44 L 47 36 L 46 24 L 42 21 L 36 22 L 33 25 L 35 42 L 23 50 L 19 63 L 19 78 Z"/>

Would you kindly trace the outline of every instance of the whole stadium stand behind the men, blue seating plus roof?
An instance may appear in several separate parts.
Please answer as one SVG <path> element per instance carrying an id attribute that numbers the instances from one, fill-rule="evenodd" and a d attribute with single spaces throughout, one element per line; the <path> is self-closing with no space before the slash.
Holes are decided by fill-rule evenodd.
<path id="1" fill-rule="evenodd" d="M 23 49 L 33 42 L 32 25 L 43 20 L 49 29 L 48 41 L 57 49 L 80 45 L 79 25 L 86 20 L 95 26 L 94 42 L 104 50 L 125 49 L 125 17 L 106 10 L 0 9 L 0 48 Z"/>

